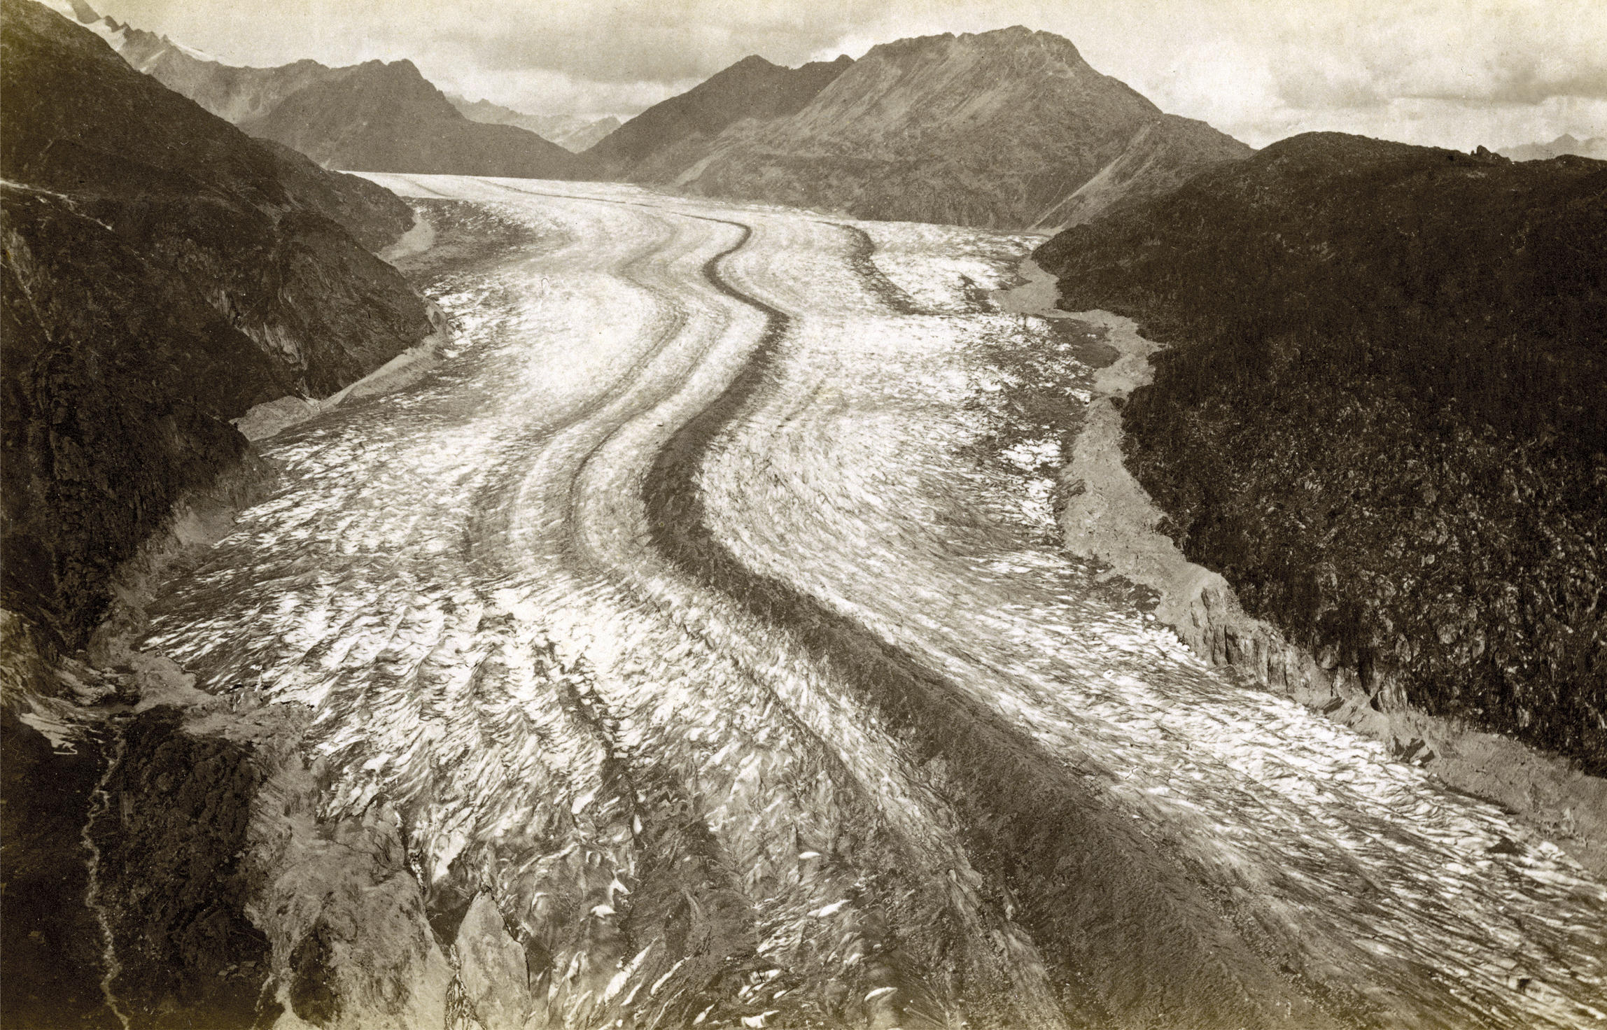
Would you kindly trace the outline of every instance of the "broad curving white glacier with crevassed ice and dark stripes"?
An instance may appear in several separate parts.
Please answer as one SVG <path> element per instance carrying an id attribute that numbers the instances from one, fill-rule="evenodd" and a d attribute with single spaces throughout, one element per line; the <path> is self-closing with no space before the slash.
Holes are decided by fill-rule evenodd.
<path id="1" fill-rule="evenodd" d="M 1053 432 L 987 453 L 1027 239 L 374 178 L 535 243 L 146 646 L 309 705 L 534 1025 L 1607 1025 L 1607 887 L 1053 546 Z"/>

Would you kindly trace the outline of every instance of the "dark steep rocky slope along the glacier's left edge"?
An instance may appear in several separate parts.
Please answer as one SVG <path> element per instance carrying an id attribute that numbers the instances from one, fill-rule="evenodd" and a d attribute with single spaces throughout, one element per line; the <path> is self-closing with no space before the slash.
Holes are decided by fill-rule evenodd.
<path id="1" fill-rule="evenodd" d="M 0 0 L 3 604 L 77 644 L 228 419 L 329 394 L 432 331 L 370 254 L 389 191 L 251 140 L 87 29 Z"/>

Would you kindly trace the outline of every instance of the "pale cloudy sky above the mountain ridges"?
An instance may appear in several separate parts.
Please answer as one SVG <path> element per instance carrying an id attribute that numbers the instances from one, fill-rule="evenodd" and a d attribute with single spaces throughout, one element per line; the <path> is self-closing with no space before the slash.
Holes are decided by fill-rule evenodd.
<path id="1" fill-rule="evenodd" d="M 757 53 L 795 66 L 1022 24 L 1252 146 L 1607 137 L 1607 0 L 90 0 L 230 64 L 410 58 L 530 114 L 628 117 Z"/>

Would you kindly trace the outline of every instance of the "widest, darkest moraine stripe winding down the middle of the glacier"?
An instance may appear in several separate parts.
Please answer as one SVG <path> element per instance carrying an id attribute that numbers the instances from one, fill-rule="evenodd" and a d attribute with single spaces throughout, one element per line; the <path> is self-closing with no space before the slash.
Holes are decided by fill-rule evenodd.
<path id="1" fill-rule="evenodd" d="M 693 580 L 808 648 L 879 712 L 916 763 L 943 758 L 955 779 L 948 800 L 964 823 L 971 861 L 987 877 L 983 890 L 1001 909 L 1014 901 L 1016 922 L 1049 963 L 1073 1025 L 1334 1025 L 1308 999 L 1292 956 L 1276 954 L 1249 914 L 1114 810 L 1096 783 L 913 654 L 749 570 L 714 537 L 697 469 L 720 431 L 759 397 L 791 328 L 786 313 L 722 275 L 723 259 L 752 235 L 728 223 L 742 236 L 709 259 L 704 275 L 763 312 L 765 331 L 726 390 L 657 455 L 643 485 L 654 546 Z"/>

